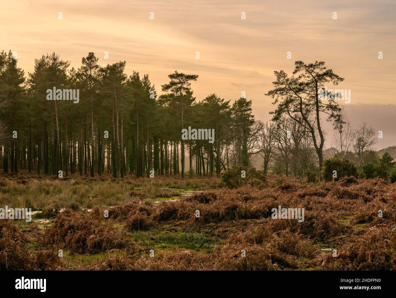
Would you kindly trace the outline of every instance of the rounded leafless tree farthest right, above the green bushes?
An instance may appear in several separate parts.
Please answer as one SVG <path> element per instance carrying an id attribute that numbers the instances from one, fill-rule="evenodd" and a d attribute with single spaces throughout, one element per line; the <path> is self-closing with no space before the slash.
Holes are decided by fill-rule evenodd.
<path id="1" fill-rule="evenodd" d="M 353 143 L 353 151 L 356 153 L 359 159 L 359 169 L 362 168 L 363 165 L 363 157 L 364 154 L 372 149 L 375 143 L 377 143 L 377 139 L 375 138 L 374 129 L 370 126 L 368 127 L 366 122 L 363 122 L 361 126 L 356 128 L 354 131 L 354 143 Z"/>

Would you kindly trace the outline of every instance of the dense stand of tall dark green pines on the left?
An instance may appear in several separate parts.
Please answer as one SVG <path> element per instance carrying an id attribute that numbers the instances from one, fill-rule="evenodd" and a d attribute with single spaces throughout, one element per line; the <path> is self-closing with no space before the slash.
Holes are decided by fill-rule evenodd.
<path id="1" fill-rule="evenodd" d="M 157 95 L 148 75 L 125 73 L 125 61 L 100 66 L 90 52 L 78 69 L 56 53 L 34 61 L 25 77 L 10 52 L 0 54 L 0 152 L 5 173 L 219 176 L 247 165 L 255 123 L 251 101 L 210 94 L 196 101 L 198 75 L 175 71 Z M 47 100 L 47 90 L 79 90 L 73 101 Z M 59 93 L 61 96 L 61 92 Z M 183 140 L 184 127 L 215 130 L 215 142 Z M 189 168 L 185 169 L 188 151 Z"/>

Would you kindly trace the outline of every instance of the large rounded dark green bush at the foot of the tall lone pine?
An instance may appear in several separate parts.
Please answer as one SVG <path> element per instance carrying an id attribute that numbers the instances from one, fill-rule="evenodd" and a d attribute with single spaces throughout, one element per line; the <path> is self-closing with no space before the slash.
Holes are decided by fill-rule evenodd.
<path id="1" fill-rule="evenodd" d="M 326 159 L 323 163 L 321 175 L 325 181 L 333 180 L 333 171 L 337 171 L 334 181 L 338 181 L 345 176 L 354 176 L 358 178 L 358 168 L 347 159 L 339 160 L 335 157 Z"/>

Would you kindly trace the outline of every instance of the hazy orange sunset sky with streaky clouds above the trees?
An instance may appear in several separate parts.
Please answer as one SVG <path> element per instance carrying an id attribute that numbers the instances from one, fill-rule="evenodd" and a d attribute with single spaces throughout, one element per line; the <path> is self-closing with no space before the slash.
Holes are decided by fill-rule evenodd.
<path id="1" fill-rule="evenodd" d="M 396 145 L 395 12 L 394 0 L 2 0 L 0 51 L 16 52 L 26 75 L 51 52 L 76 69 L 88 52 L 102 66 L 125 60 L 126 73 L 148 73 L 159 94 L 175 70 L 196 74 L 198 101 L 215 93 L 233 102 L 245 92 L 263 121 L 275 109 L 265 96 L 274 71 L 325 61 L 345 78 L 337 88 L 351 92 L 350 103 L 339 102 L 352 126 L 383 131 L 382 149 Z"/>

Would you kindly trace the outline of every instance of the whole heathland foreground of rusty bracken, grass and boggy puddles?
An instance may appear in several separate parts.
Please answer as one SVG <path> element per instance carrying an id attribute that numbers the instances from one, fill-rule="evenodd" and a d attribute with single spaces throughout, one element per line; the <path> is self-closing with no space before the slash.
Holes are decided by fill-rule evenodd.
<path id="1" fill-rule="evenodd" d="M 33 215 L 0 220 L 0 269 L 396 269 L 395 193 L 379 178 L 228 189 L 216 178 L 3 175 L 1 205 Z M 278 206 L 304 208 L 304 222 L 272 218 Z"/>

